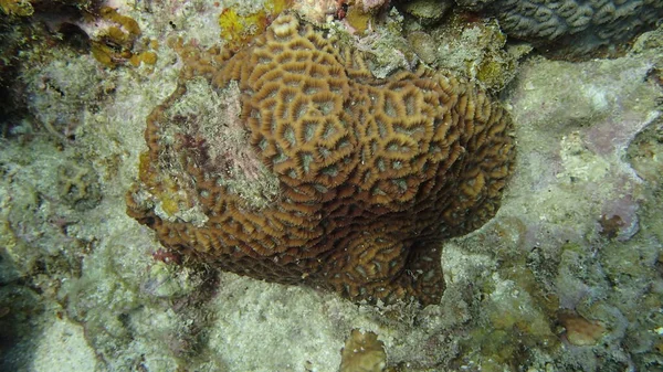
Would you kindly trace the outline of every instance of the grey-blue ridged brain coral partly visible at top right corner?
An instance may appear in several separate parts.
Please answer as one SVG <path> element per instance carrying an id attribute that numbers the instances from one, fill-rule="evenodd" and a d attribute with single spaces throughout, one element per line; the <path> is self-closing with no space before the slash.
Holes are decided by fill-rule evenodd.
<path id="1" fill-rule="evenodd" d="M 663 18 L 661 0 L 459 0 L 497 15 L 509 36 L 580 55 L 624 42 Z"/>

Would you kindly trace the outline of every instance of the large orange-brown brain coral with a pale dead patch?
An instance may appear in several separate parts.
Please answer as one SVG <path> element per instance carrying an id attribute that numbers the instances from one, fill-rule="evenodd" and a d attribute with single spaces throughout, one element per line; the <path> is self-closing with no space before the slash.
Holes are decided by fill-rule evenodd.
<path id="1" fill-rule="evenodd" d="M 230 56 L 181 53 L 148 118 L 129 215 L 225 270 L 354 300 L 439 301 L 440 241 L 492 217 L 509 117 L 457 79 L 377 79 L 361 55 L 278 17 Z"/>

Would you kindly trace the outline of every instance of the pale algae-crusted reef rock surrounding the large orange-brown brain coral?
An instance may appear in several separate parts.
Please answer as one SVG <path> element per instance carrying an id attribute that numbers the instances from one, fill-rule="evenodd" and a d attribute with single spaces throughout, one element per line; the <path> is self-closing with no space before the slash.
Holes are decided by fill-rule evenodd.
<path id="1" fill-rule="evenodd" d="M 448 14 L 451 24 L 430 28 L 391 8 L 361 39 L 344 34 L 341 22 L 322 25 L 343 40 L 335 51 L 359 47 L 381 77 L 409 66 L 402 33 L 415 33 L 424 46 L 417 53 L 425 52 L 432 68 L 470 78 L 484 65 L 488 77 L 515 74 L 501 95 L 518 140 L 502 206 L 481 228 L 440 244 L 444 294 L 422 309 L 356 305 L 319 288 L 219 273 L 161 246 L 126 214 L 126 191 L 146 150 L 146 117 L 160 103 L 166 138 L 178 115 L 189 125 L 215 118 L 206 131 L 225 137 L 225 149 L 240 158 L 254 155 L 250 137 L 236 130 L 244 123 L 239 82 L 211 82 L 225 56 L 198 47 L 222 42 L 222 7 L 251 13 L 266 1 L 107 2 L 140 24 L 137 49 L 158 41 L 156 64 L 140 68 L 104 68 L 65 34 L 48 35 L 44 8 L 63 2 L 73 3 L 30 0 L 32 17 L 0 14 L 0 116 L 11 116 L 0 118 L 10 123 L 0 140 L 0 370 L 338 371 L 354 329 L 378 334 L 387 371 L 663 369 L 663 29 L 641 35 L 625 56 L 530 56 L 499 72 L 482 61 L 515 45 L 502 46 L 496 21 L 457 8 Z M 445 25 L 457 32 L 440 32 Z M 177 39 L 197 47 L 169 42 Z M 185 65 L 177 50 L 191 53 L 187 63 L 213 68 L 208 76 L 187 67 L 187 92 L 164 102 Z M 236 172 L 225 185 L 256 210 L 269 209 L 280 184 L 252 159 L 240 160 L 267 182 Z M 242 169 L 250 168 L 228 170 Z M 66 185 L 78 174 L 101 199 L 77 206 L 77 193 L 65 191 L 76 191 Z M 180 205 L 186 194 L 177 191 L 161 193 L 158 215 L 204 223 L 202 213 Z"/>

